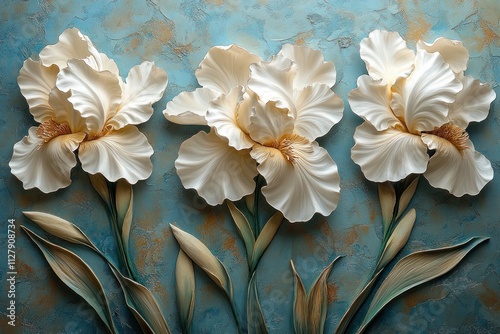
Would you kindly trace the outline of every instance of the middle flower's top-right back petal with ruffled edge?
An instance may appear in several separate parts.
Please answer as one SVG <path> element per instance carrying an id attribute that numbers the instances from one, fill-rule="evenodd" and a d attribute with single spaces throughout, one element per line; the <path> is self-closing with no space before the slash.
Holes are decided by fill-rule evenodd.
<path id="1" fill-rule="evenodd" d="M 325 84 L 328 87 L 335 85 L 335 65 L 325 61 L 321 51 L 307 46 L 285 44 L 278 54 L 298 65 L 295 88 L 302 89 L 312 84 Z"/>

